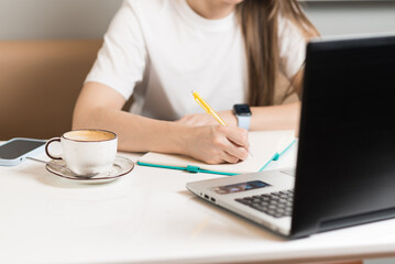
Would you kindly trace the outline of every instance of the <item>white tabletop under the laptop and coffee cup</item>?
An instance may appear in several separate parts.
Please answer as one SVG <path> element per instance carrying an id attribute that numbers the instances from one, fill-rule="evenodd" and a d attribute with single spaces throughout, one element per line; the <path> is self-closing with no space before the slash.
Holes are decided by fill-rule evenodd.
<path id="1" fill-rule="evenodd" d="M 295 164 L 295 153 L 267 169 Z M 395 220 L 286 241 L 185 188 L 212 177 L 219 176 L 135 166 L 116 182 L 84 185 L 32 161 L 0 167 L 0 263 L 296 263 L 395 254 Z"/>

